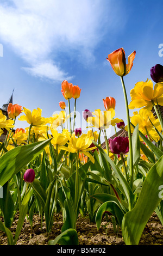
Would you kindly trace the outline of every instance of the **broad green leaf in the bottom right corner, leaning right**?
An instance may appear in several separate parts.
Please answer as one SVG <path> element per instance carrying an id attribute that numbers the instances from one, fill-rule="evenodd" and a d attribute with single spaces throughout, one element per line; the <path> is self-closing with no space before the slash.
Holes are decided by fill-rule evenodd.
<path id="1" fill-rule="evenodd" d="M 159 187 L 163 184 L 163 156 L 149 170 L 135 207 L 124 215 L 122 235 L 126 245 L 138 245 L 143 229 L 162 198 Z"/>

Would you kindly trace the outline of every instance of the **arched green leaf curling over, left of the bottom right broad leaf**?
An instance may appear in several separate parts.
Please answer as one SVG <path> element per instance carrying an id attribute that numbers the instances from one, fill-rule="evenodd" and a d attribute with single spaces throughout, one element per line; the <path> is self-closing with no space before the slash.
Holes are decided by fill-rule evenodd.
<path id="1" fill-rule="evenodd" d="M 97 211 L 96 225 L 97 225 L 98 230 L 101 226 L 101 222 L 102 222 L 102 219 L 103 219 L 103 216 L 105 213 L 115 216 L 117 218 L 118 224 L 121 227 L 124 214 L 123 214 L 122 210 L 120 209 L 120 206 L 118 206 L 118 204 L 116 202 L 108 201 L 108 202 L 103 203 Z"/>

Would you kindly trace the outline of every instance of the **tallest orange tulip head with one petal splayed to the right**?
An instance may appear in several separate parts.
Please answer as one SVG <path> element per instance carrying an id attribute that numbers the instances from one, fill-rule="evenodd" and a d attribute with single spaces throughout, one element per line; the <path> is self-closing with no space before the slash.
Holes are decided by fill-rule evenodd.
<path id="1" fill-rule="evenodd" d="M 123 48 L 120 48 L 108 55 L 108 58 L 106 58 L 111 66 L 114 72 L 118 76 L 126 76 L 129 74 L 132 66 L 133 66 L 133 61 L 135 58 L 136 51 L 130 54 L 128 56 L 128 64 L 126 64 L 126 57 L 125 57 L 125 52 Z"/>

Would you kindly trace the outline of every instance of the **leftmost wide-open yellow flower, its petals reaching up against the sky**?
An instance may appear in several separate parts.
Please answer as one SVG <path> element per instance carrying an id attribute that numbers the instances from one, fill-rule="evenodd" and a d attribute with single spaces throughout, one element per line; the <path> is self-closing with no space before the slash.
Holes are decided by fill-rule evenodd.
<path id="1" fill-rule="evenodd" d="M 48 118 L 41 117 L 42 109 L 33 109 L 31 112 L 28 108 L 23 107 L 25 115 L 21 115 L 20 121 L 27 121 L 31 126 L 40 126 L 48 123 Z"/>

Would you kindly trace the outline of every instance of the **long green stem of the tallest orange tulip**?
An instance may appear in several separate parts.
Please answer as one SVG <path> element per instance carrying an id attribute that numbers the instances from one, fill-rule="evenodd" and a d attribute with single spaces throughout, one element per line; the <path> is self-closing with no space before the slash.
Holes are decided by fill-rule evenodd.
<path id="1" fill-rule="evenodd" d="M 124 93 L 124 100 L 126 104 L 126 114 L 127 114 L 127 126 L 128 126 L 128 139 L 129 139 L 129 153 L 130 153 L 130 187 L 131 189 L 133 188 L 133 146 L 132 146 L 132 140 L 131 140 L 131 127 L 130 127 L 130 115 L 129 115 L 129 108 L 128 108 L 128 100 L 127 100 L 127 93 L 126 93 L 126 88 L 124 85 L 124 80 L 123 76 L 121 76 L 121 82 L 122 82 L 122 88 L 123 88 L 123 93 Z"/>

